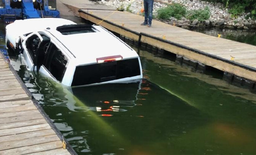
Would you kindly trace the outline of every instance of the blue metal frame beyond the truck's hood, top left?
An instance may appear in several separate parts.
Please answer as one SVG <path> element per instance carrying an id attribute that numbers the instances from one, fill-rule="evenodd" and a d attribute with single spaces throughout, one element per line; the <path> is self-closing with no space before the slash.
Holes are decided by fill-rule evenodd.
<path id="1" fill-rule="evenodd" d="M 48 8 L 48 0 L 37 0 L 37 2 L 43 3 L 43 10 L 36 10 L 32 0 L 21 0 L 21 9 L 11 8 L 11 1 L 18 2 L 18 0 L 0 0 L 5 5 L 4 8 L 0 8 L 0 18 L 6 23 L 10 23 L 16 19 L 29 19 L 29 18 L 41 18 L 54 17 L 59 18 L 60 12 L 57 10 L 50 10 Z"/>

